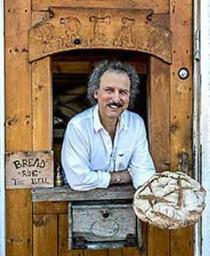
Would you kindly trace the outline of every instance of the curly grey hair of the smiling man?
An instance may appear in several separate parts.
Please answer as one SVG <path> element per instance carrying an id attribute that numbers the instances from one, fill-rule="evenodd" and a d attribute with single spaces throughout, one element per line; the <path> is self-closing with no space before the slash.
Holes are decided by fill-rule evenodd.
<path id="1" fill-rule="evenodd" d="M 97 67 L 94 68 L 87 83 L 87 99 L 89 99 L 92 105 L 97 104 L 97 100 L 93 96 L 94 91 L 99 88 L 102 74 L 107 71 L 128 74 L 130 79 L 129 109 L 134 108 L 134 99 L 136 94 L 139 92 L 139 76 L 134 67 L 131 67 L 127 63 L 123 63 L 121 61 L 102 61 Z"/>

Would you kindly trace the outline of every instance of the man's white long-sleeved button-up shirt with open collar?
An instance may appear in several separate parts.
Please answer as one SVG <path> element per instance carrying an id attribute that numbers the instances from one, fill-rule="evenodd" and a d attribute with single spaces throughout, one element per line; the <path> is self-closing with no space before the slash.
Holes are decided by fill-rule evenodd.
<path id="1" fill-rule="evenodd" d="M 142 118 L 125 110 L 112 142 L 101 124 L 98 105 L 69 121 L 61 163 L 68 184 L 75 190 L 108 188 L 110 173 L 125 169 L 137 189 L 155 173 Z"/>

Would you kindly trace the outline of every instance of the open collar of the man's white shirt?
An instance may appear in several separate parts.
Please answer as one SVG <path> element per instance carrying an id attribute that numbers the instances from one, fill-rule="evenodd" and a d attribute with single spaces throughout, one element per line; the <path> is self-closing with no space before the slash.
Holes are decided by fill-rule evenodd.
<path id="1" fill-rule="evenodd" d="M 124 120 L 124 114 L 125 113 L 123 112 L 123 114 L 120 115 L 117 130 L 121 130 L 121 129 L 128 130 L 128 125 L 125 123 L 125 120 Z M 104 129 L 98 113 L 98 104 L 96 104 L 96 106 L 93 109 L 93 120 L 94 120 L 94 129 L 96 132 L 101 129 Z"/>

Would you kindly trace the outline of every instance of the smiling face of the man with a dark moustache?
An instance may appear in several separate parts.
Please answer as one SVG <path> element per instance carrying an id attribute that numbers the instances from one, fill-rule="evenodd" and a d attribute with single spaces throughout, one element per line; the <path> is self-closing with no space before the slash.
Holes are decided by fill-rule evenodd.
<path id="1" fill-rule="evenodd" d="M 130 80 L 126 73 L 103 73 L 99 88 L 94 92 L 102 121 L 118 120 L 129 106 L 129 92 Z"/>

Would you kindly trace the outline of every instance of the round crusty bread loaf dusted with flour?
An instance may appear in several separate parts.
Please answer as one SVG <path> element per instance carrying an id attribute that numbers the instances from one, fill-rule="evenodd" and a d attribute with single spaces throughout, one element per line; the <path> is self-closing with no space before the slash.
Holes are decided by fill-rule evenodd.
<path id="1" fill-rule="evenodd" d="M 185 173 L 156 173 L 136 191 L 134 211 L 155 227 L 186 227 L 199 220 L 205 195 L 201 184 Z"/>

